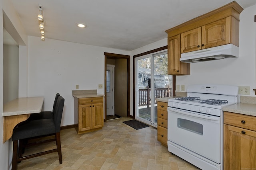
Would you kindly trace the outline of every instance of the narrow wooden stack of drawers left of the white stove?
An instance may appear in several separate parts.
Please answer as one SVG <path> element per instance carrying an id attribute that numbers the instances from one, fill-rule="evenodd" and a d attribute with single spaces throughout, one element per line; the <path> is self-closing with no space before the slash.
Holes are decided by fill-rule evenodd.
<path id="1" fill-rule="evenodd" d="M 167 103 L 157 102 L 157 140 L 167 146 Z"/>

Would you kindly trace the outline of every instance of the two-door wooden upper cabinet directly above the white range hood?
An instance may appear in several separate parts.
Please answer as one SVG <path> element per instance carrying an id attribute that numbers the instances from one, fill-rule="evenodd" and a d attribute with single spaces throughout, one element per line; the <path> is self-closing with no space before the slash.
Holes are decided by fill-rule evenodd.
<path id="1" fill-rule="evenodd" d="M 181 53 L 225 44 L 239 46 L 239 21 L 229 16 L 181 33 Z M 233 35 L 233 36 L 232 36 Z"/>

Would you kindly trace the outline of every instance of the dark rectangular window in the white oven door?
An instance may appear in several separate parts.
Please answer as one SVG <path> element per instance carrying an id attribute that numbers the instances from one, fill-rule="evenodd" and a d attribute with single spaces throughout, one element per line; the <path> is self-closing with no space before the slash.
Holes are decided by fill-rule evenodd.
<path id="1" fill-rule="evenodd" d="M 203 135 L 203 125 L 194 121 L 178 118 L 178 127 L 199 135 Z"/>

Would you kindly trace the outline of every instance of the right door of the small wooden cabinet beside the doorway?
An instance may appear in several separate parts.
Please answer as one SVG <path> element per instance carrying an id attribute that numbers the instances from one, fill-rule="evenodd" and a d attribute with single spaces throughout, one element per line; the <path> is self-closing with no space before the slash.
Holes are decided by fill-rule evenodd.
<path id="1" fill-rule="evenodd" d="M 103 127 L 103 104 L 92 104 L 92 128 Z"/>

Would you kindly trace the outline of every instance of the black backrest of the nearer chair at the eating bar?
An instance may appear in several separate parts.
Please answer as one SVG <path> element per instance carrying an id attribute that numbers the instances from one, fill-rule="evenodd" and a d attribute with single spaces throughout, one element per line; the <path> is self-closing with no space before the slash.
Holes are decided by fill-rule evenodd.
<path id="1" fill-rule="evenodd" d="M 56 102 L 56 107 L 54 108 L 54 112 L 53 112 L 53 119 L 54 119 L 56 133 L 60 132 L 60 123 L 62 118 L 63 107 L 64 107 L 64 98 L 62 98 L 62 96 L 59 96 Z"/>

